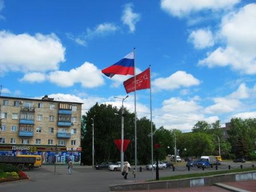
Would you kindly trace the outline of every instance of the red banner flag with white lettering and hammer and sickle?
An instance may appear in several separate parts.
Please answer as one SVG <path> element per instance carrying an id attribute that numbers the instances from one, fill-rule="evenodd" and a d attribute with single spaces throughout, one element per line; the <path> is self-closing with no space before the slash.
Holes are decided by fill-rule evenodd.
<path id="1" fill-rule="evenodd" d="M 134 77 L 127 79 L 123 82 L 126 93 L 133 92 L 134 89 Z M 147 68 L 142 73 L 136 75 L 136 90 L 150 89 L 150 68 Z"/>

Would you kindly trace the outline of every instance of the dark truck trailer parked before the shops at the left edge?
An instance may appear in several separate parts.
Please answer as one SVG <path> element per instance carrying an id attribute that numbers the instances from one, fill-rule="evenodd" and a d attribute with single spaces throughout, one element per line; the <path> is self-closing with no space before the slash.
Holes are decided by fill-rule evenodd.
<path id="1" fill-rule="evenodd" d="M 35 164 L 35 157 L 18 157 L 18 156 L 0 155 L 0 163 L 6 163 L 7 165 L 14 165 L 19 170 L 23 170 L 24 167 L 33 169 Z"/>

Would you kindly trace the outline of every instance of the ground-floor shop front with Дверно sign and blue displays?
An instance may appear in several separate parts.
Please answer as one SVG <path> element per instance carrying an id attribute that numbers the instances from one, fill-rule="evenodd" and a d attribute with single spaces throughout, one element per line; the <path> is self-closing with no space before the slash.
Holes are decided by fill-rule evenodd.
<path id="1" fill-rule="evenodd" d="M 32 145 L 0 145 L 0 155 L 41 155 L 42 164 L 65 164 L 71 161 L 81 163 L 81 147 L 65 146 L 32 146 Z"/>

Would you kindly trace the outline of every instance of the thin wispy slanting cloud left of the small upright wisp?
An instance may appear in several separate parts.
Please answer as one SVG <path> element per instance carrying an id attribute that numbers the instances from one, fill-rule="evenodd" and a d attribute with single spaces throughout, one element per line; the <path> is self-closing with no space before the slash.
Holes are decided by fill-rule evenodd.
<path id="1" fill-rule="evenodd" d="M 81 46 L 87 46 L 87 41 L 96 37 L 105 37 L 106 35 L 114 34 L 119 27 L 114 23 L 101 23 L 94 29 L 87 28 L 86 33 L 74 37 L 73 34 L 67 33 L 67 37 Z"/>

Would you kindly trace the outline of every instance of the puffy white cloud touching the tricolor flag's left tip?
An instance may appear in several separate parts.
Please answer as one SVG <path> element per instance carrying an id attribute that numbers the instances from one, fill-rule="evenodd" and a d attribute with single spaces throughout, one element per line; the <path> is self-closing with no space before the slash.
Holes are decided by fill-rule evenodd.
<path id="1" fill-rule="evenodd" d="M 80 67 L 70 71 L 54 71 L 49 74 L 50 82 L 62 87 L 73 86 L 74 83 L 81 83 L 83 87 L 97 87 L 104 84 L 101 70 L 89 62 L 83 63 Z M 67 81 L 69 79 L 69 81 Z"/>

